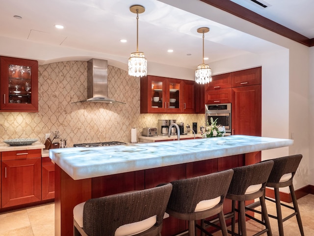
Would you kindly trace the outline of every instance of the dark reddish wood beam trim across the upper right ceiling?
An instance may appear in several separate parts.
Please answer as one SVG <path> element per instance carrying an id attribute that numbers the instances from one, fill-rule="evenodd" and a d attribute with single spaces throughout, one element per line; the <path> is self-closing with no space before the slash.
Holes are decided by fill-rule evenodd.
<path id="1" fill-rule="evenodd" d="M 231 0 L 201 0 L 201 1 L 209 5 L 212 5 L 214 7 L 217 7 L 221 10 L 224 10 L 237 17 L 240 17 L 246 21 L 252 22 L 265 29 L 278 33 L 293 41 L 306 45 L 308 47 L 314 46 L 314 38 L 309 39 L 308 37 L 298 32 L 295 32 L 292 29 L 288 29 L 287 27 L 282 26 L 274 21 L 271 21 L 241 5 L 236 4 L 235 2 Z"/>

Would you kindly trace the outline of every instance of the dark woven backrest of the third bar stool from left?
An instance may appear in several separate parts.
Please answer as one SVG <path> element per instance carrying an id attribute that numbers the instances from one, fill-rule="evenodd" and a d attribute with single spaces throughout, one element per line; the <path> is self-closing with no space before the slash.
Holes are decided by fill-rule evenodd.
<path id="1" fill-rule="evenodd" d="M 253 165 L 233 168 L 234 176 L 228 194 L 244 196 L 247 188 L 256 184 L 262 184 L 260 191 L 263 191 L 273 164 L 273 161 L 264 161 Z"/>

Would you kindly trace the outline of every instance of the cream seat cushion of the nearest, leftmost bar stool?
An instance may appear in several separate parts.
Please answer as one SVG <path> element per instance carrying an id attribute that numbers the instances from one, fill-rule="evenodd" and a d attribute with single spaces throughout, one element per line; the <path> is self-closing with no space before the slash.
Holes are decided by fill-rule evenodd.
<path id="1" fill-rule="evenodd" d="M 73 209 L 73 217 L 75 221 L 78 223 L 79 227 L 81 228 L 83 228 L 84 204 L 85 202 L 80 203 L 77 206 L 75 206 Z M 156 221 L 157 221 L 157 216 L 154 215 L 142 221 L 122 225 L 116 230 L 115 236 L 132 236 L 132 235 L 139 234 L 153 227 L 153 225 L 156 224 Z"/>

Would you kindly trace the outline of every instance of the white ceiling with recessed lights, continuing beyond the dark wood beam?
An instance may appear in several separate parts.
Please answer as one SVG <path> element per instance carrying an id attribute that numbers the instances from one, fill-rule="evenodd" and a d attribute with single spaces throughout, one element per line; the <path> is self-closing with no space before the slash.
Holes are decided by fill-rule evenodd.
<path id="1" fill-rule="evenodd" d="M 195 69 L 202 63 L 199 27 L 210 28 L 205 34 L 205 57 L 209 58 L 205 63 L 208 64 L 279 47 L 164 3 L 167 1 L 0 0 L 0 55 L 36 59 L 40 64 L 100 58 L 125 68 L 130 54 L 136 51 L 136 14 L 129 9 L 133 4 L 141 4 L 146 9 L 139 15 L 138 49 L 145 53 L 148 65 L 154 62 Z M 311 12 L 314 1 L 267 0 L 270 6 L 265 9 L 250 0 L 233 1 L 314 38 Z M 197 3 L 210 7 L 198 0 Z M 14 18 L 15 15 L 22 19 Z M 55 24 L 63 25 L 64 29 L 55 29 Z M 120 39 L 127 42 L 121 43 Z M 168 53 L 168 49 L 174 50 L 173 53 Z"/>

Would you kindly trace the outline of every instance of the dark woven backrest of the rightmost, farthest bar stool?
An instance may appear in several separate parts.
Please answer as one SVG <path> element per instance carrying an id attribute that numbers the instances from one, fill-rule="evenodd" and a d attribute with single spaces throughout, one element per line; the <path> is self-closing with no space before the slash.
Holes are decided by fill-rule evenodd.
<path id="1" fill-rule="evenodd" d="M 281 177 L 285 174 L 292 174 L 292 177 L 295 175 L 296 170 L 301 162 L 302 155 L 290 155 L 279 158 L 272 159 L 274 161 L 273 169 L 269 175 L 269 183 L 279 183 Z"/>

